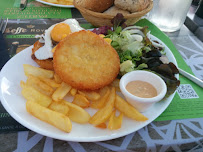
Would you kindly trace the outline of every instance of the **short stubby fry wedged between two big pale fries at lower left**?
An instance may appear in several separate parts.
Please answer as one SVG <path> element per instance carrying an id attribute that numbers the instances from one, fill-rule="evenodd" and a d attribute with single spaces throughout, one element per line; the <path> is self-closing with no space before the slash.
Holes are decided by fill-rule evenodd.
<path id="1" fill-rule="evenodd" d="M 67 115 L 68 111 L 69 111 L 69 107 L 66 104 L 64 104 L 63 102 L 52 101 L 51 105 L 49 105 L 48 108 L 53 111 L 60 112 L 64 115 Z"/>

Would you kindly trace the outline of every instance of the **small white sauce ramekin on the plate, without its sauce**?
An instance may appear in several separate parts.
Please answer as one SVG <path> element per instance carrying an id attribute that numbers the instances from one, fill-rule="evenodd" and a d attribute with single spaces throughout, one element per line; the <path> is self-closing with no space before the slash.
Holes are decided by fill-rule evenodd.
<path id="1" fill-rule="evenodd" d="M 157 90 L 157 96 L 141 98 L 131 94 L 126 90 L 127 84 L 131 81 L 145 81 L 150 83 Z M 120 89 L 127 102 L 140 112 L 147 111 L 154 103 L 163 99 L 167 92 L 166 84 L 162 78 L 152 72 L 143 70 L 132 71 L 125 74 L 120 80 Z"/>

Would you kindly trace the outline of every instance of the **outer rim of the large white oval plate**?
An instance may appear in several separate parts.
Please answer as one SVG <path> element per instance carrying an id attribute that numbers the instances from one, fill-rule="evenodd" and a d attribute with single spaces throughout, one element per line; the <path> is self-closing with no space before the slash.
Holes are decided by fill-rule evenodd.
<path id="1" fill-rule="evenodd" d="M 157 38 L 157 37 L 155 37 L 155 36 L 153 36 L 152 35 L 152 39 L 158 39 L 159 41 L 161 41 L 159 38 Z M 161 41 L 162 42 L 162 41 Z M 163 43 L 163 42 L 162 42 Z M 168 46 L 165 44 L 165 43 L 163 43 L 167 48 L 168 48 Z M 30 47 L 28 47 L 28 48 L 26 48 L 26 49 L 24 49 L 22 52 L 20 52 L 20 53 L 23 53 L 23 52 L 25 52 L 25 51 L 27 51 L 27 50 L 29 50 L 29 49 L 31 49 L 33 47 L 33 45 L 32 46 L 30 46 Z M 173 55 L 173 53 L 172 53 L 172 51 L 168 48 L 168 50 L 169 50 L 169 52 L 172 54 L 172 58 L 173 58 L 173 60 L 175 61 L 175 65 L 177 66 L 177 61 L 176 61 L 176 59 L 175 59 L 175 57 L 174 57 L 174 55 Z M 18 56 L 20 56 L 21 54 L 20 53 L 18 53 L 18 54 L 16 54 L 13 58 L 11 58 L 10 60 L 15 60 L 15 58 L 17 58 Z M 2 70 L 1 70 L 1 72 L 0 72 L 0 87 L 1 87 L 1 85 L 2 85 L 2 73 L 4 72 L 4 70 L 6 69 L 6 66 L 7 66 L 7 64 L 9 64 L 9 61 L 3 66 L 3 68 L 2 68 Z M 177 79 L 179 79 L 179 74 L 178 75 L 176 75 L 176 77 L 177 77 Z M 145 127 L 145 126 L 147 126 L 149 123 L 151 123 L 151 122 L 153 122 L 158 116 L 160 116 L 165 110 L 166 110 L 166 108 L 170 105 L 170 103 L 172 102 L 172 100 L 173 100 L 173 98 L 174 98 L 174 95 L 175 95 L 175 93 L 176 93 L 176 91 L 173 93 L 173 94 L 171 94 L 170 96 L 169 96 L 169 98 L 171 98 L 171 100 L 169 101 L 169 102 L 167 102 L 167 104 L 165 105 L 165 108 L 162 108 L 161 110 L 160 110 L 160 112 L 159 112 L 159 114 L 157 114 L 157 115 L 155 115 L 154 116 L 154 118 L 153 119 L 150 119 L 150 120 L 148 120 L 148 121 L 146 121 L 146 122 L 143 122 L 139 127 L 137 127 L 136 129 L 134 129 L 133 131 L 127 131 L 127 132 L 121 132 L 120 134 L 116 134 L 116 135 L 112 135 L 112 136 L 105 136 L 105 137 L 100 137 L 100 138 L 90 138 L 90 139 L 87 139 L 86 137 L 80 137 L 80 138 L 78 138 L 78 137 L 75 137 L 75 138 L 73 138 L 73 137 L 71 137 L 71 138 L 61 138 L 61 137 L 59 137 L 59 136 L 54 136 L 54 135 L 52 135 L 52 134 L 49 134 L 49 132 L 46 132 L 46 131 L 41 131 L 41 130 L 39 130 L 38 128 L 36 128 L 35 126 L 33 127 L 32 125 L 30 125 L 29 124 L 29 121 L 27 122 L 27 121 L 22 121 L 23 120 L 23 118 L 21 117 L 18 117 L 17 115 L 15 115 L 15 113 L 14 112 L 12 112 L 12 108 L 9 108 L 9 104 L 8 104 L 8 102 L 6 101 L 6 99 L 4 98 L 4 96 L 3 96 L 3 94 L 2 94 L 2 91 L 0 91 L 0 99 L 1 99 L 1 103 L 2 103 L 2 105 L 3 105 L 3 107 L 6 109 L 6 111 L 17 121 L 17 122 L 19 122 L 20 124 L 22 124 L 23 126 L 25 126 L 26 128 L 28 128 L 28 129 L 30 129 L 31 131 L 34 131 L 34 132 L 36 132 L 36 133 L 39 133 L 39 134 L 42 134 L 42 135 L 44 135 L 44 136 L 47 136 L 47 137 L 51 137 L 51 138 L 54 138 L 54 139 L 59 139 L 59 140 L 64 140 L 64 141 L 73 141 L 73 142 L 98 142 L 98 141 L 107 141 L 107 140 L 112 140 L 112 139 L 116 139 L 116 138 L 119 138 L 119 137 L 123 137 L 123 136 L 126 136 L 126 135 L 128 135 L 128 134 L 131 134 L 131 133 L 133 133 L 133 132 L 135 132 L 135 131 L 138 131 L 138 130 L 140 130 L 141 128 L 143 128 L 143 127 Z M 36 118 L 36 119 L 38 119 L 38 118 Z M 133 120 L 134 121 L 134 120 Z M 43 121 L 42 121 L 43 122 Z M 63 136 L 63 137 L 66 137 L 65 135 Z"/>

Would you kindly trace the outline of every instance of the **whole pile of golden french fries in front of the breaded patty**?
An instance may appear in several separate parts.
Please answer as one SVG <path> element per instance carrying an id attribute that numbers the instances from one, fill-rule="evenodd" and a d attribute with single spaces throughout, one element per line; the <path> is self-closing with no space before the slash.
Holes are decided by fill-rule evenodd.
<path id="1" fill-rule="evenodd" d="M 116 94 L 119 80 L 97 91 L 82 91 L 61 81 L 54 71 L 24 64 L 26 82 L 21 81 L 22 95 L 27 100 L 26 110 L 34 117 L 65 132 L 72 130 L 72 121 L 90 123 L 98 128 L 121 128 L 123 116 L 136 121 L 147 118 Z M 67 95 L 73 101 L 65 101 Z M 85 108 L 98 109 L 90 116 Z M 119 113 L 117 116 L 116 113 Z"/>

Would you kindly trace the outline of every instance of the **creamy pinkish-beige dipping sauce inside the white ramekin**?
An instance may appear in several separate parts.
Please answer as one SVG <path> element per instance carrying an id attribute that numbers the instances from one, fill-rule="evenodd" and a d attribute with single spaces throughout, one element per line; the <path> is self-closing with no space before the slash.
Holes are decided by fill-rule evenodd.
<path id="1" fill-rule="evenodd" d="M 141 98 L 157 96 L 157 90 L 150 83 L 144 81 L 131 81 L 127 84 L 126 89 L 134 96 Z"/>

